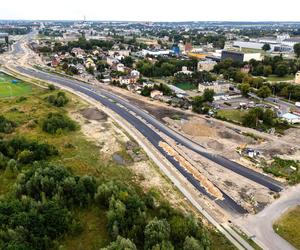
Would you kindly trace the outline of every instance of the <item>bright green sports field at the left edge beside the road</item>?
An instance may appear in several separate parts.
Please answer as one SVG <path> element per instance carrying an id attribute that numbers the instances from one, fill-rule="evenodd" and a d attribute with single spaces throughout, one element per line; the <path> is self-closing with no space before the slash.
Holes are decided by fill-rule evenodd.
<path id="1" fill-rule="evenodd" d="M 31 93 L 31 86 L 23 81 L 12 83 L 15 78 L 0 72 L 0 98 L 22 96 Z"/>

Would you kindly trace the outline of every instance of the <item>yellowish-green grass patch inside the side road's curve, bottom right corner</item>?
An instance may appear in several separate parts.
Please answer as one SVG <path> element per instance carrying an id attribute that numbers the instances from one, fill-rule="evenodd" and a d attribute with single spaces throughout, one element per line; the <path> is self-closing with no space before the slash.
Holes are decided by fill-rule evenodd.
<path id="1" fill-rule="evenodd" d="M 273 225 L 274 231 L 300 249 L 300 206 L 288 211 Z"/>

